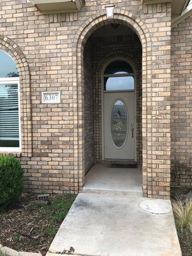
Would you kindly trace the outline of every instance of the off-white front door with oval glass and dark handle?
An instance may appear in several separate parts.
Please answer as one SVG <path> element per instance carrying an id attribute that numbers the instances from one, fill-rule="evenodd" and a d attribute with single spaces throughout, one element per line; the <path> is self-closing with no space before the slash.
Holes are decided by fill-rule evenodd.
<path id="1" fill-rule="evenodd" d="M 104 159 L 134 160 L 134 92 L 104 92 Z"/>

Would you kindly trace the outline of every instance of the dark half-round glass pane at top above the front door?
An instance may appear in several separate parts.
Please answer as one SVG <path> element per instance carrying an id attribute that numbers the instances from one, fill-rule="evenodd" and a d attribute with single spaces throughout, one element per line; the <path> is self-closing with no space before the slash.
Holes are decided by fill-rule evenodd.
<path id="1" fill-rule="evenodd" d="M 116 60 L 111 62 L 104 72 L 104 75 L 112 74 L 133 74 L 133 69 L 126 61 Z"/>

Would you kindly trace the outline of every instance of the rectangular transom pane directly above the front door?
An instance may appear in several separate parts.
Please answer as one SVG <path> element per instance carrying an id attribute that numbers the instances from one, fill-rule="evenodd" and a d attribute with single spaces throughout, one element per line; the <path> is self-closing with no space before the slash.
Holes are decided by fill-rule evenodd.
<path id="1" fill-rule="evenodd" d="M 104 90 L 134 90 L 133 76 L 104 77 Z"/>

